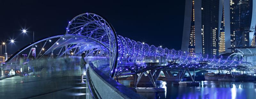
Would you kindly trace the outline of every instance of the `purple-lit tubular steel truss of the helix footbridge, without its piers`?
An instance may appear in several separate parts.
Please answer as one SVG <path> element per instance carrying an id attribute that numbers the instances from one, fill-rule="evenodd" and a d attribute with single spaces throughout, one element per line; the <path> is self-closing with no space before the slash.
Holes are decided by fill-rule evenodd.
<path id="1" fill-rule="evenodd" d="M 95 13 L 84 13 L 76 16 L 66 28 L 64 35 L 47 37 L 18 50 L 4 64 L 17 64 L 19 54 L 24 50 L 43 43 L 46 51 L 40 50 L 36 59 L 57 51 L 57 57 L 87 56 L 106 57 L 109 60 L 109 74 L 115 76 L 139 74 L 150 70 L 242 70 L 254 71 L 255 67 L 243 62 L 239 57 L 223 58 L 208 56 L 202 53 L 174 50 L 136 42 L 117 35 L 112 25 L 102 16 Z M 49 42 L 57 39 L 55 43 Z M 46 44 L 49 44 L 46 48 Z M 29 51 L 30 53 L 31 51 Z M 129 56 L 129 58 L 128 58 Z M 16 60 L 14 60 L 16 58 Z M 246 64 L 246 66 L 244 66 Z M 153 72 L 152 72 L 153 73 Z M 152 75 L 151 75 L 152 76 Z"/>

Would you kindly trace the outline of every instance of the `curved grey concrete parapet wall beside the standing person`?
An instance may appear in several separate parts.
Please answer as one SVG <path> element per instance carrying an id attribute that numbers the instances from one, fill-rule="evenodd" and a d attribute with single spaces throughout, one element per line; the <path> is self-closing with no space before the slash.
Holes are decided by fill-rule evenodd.
<path id="1" fill-rule="evenodd" d="M 95 62 L 95 61 L 94 61 Z M 95 63 L 94 63 L 95 64 Z M 131 89 L 125 87 L 124 85 L 116 82 L 116 80 L 111 79 L 106 76 L 100 70 L 94 66 L 94 64 L 90 64 L 88 70 L 88 79 L 90 79 L 89 84 L 90 88 L 92 88 L 94 92 L 95 98 L 103 98 L 103 99 L 144 99 L 145 97 L 135 93 Z M 87 81 L 88 83 L 88 81 Z M 87 95 L 88 95 L 87 94 Z M 88 96 L 88 98 L 92 98 L 92 96 Z"/>

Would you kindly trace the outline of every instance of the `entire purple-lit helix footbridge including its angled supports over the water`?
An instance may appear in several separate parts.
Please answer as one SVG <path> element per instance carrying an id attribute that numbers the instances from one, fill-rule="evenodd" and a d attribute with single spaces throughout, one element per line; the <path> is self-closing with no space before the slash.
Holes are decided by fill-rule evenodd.
<path id="1" fill-rule="evenodd" d="M 33 48 L 40 50 L 35 51 L 38 54 L 33 53 Z M 109 87 L 106 90 L 117 89 L 113 96 L 132 98 L 131 95 L 134 93 L 128 92 L 132 93 L 129 95 L 124 93 L 126 88 L 118 83 L 118 77 L 125 75 L 133 75 L 134 87 L 137 87 L 143 79 L 143 81 L 150 82 L 156 87 L 157 78 L 161 71 L 164 72 L 166 78 L 174 78 L 178 81 L 183 79 L 186 72 L 189 73 L 191 80 L 195 81 L 195 74 L 193 77 L 190 74 L 191 70 L 194 73 L 195 70 L 220 70 L 230 72 L 231 75 L 231 71 L 249 73 L 255 71 L 255 64 L 245 62 L 240 56 L 224 58 L 136 42 L 118 35 L 110 22 L 102 16 L 95 13 L 84 13 L 68 22 L 65 34 L 43 38 L 18 50 L 1 65 L 1 74 L 4 76 L 4 71 L 10 71 L 10 74 L 15 74 L 14 71 L 28 72 L 29 69 L 35 74 L 43 70 L 36 70 L 35 65 L 38 64 L 35 62 L 45 59 L 49 63 L 51 59 L 68 57 L 69 60 L 73 60 L 71 65 L 77 65 L 82 53 L 86 54 L 86 61 L 90 64 L 86 74 L 86 86 L 89 89 L 88 92 L 91 92 L 91 98 L 106 95 L 99 91 L 99 87 L 102 87 L 101 84 L 103 83 Z M 30 57 L 32 54 L 34 56 Z M 21 59 L 25 61 L 21 61 Z M 48 72 L 58 71 L 56 68 L 60 68 L 59 72 L 68 71 L 68 68 L 61 67 L 63 64 L 60 61 L 51 64 L 58 65 L 47 68 Z M 76 70 L 75 67 L 70 68 Z M 177 76 L 172 75 L 170 71 L 177 71 Z M 96 83 L 96 81 L 101 82 Z M 140 97 L 140 95 L 134 95 L 134 97 Z"/>

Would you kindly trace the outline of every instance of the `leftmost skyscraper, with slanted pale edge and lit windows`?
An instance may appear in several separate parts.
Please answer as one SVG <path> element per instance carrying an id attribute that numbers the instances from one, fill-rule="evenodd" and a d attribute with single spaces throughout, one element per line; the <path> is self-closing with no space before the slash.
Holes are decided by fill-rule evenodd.
<path id="1" fill-rule="evenodd" d="M 186 0 L 181 50 L 218 55 L 218 21 L 218 0 Z"/>

